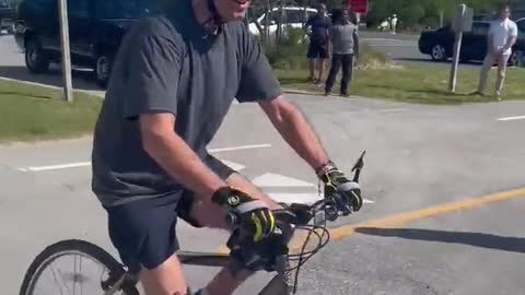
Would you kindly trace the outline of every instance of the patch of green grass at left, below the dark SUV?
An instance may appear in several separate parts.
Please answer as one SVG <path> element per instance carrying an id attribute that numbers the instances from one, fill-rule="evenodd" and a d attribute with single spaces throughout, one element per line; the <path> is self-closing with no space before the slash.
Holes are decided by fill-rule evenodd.
<path id="1" fill-rule="evenodd" d="M 69 104 L 62 92 L 0 81 L 0 142 L 63 139 L 92 132 L 102 99 L 74 92 Z"/>

